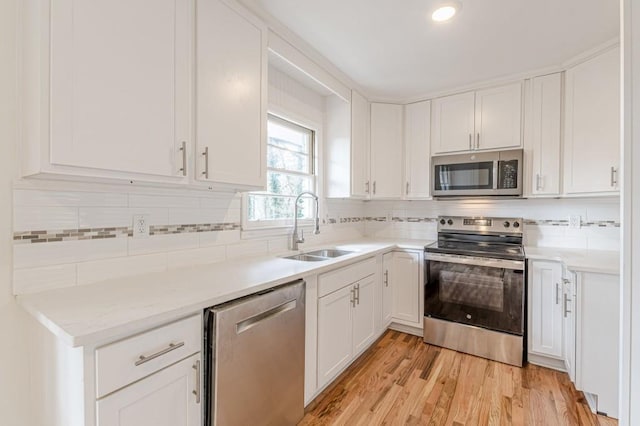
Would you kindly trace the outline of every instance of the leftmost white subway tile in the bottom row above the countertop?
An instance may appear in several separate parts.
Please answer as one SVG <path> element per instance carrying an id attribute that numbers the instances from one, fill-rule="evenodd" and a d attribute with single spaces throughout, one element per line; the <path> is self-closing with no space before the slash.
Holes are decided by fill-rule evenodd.
<path id="1" fill-rule="evenodd" d="M 76 285 L 76 264 L 14 269 L 14 294 L 29 294 Z"/>

